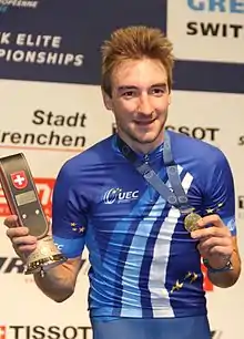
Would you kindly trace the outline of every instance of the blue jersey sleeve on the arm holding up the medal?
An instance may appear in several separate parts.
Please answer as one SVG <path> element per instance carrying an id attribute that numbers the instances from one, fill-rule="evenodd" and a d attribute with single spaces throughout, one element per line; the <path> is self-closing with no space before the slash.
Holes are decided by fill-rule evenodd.
<path id="1" fill-rule="evenodd" d="M 232 235 L 236 235 L 235 223 L 235 188 L 232 171 L 225 155 L 217 150 L 214 161 L 210 163 L 205 194 L 205 213 L 216 213 L 228 227 Z"/>

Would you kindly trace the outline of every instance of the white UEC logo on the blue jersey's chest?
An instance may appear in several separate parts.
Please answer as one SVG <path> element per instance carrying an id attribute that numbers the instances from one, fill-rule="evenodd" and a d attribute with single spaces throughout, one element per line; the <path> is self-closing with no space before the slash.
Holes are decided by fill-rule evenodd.
<path id="1" fill-rule="evenodd" d="M 106 205 L 122 204 L 136 201 L 139 198 L 139 191 L 124 191 L 122 188 L 111 188 L 103 195 L 103 202 Z"/>

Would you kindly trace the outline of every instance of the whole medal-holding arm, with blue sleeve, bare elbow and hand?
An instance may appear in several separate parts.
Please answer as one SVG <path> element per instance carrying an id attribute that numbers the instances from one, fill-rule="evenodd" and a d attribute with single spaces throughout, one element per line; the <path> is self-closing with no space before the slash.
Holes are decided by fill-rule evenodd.
<path id="1" fill-rule="evenodd" d="M 199 239 L 197 248 L 207 260 L 206 267 L 223 269 L 231 260 L 231 270 L 212 273 L 212 269 L 207 269 L 213 285 L 226 288 L 237 281 L 241 273 L 234 179 L 226 156 L 217 148 L 210 153 L 205 166 L 207 175 L 203 179 L 203 207 L 207 214 L 200 222 L 200 229 L 194 233 L 194 238 Z"/>

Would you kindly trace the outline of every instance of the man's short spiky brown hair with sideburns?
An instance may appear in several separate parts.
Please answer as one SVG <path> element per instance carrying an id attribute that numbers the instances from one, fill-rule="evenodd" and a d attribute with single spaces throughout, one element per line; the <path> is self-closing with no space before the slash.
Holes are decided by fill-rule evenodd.
<path id="1" fill-rule="evenodd" d="M 156 28 L 132 25 L 115 30 L 102 44 L 102 89 L 111 96 L 111 73 L 124 60 L 143 58 L 160 60 L 167 73 L 167 86 L 172 88 L 174 56 L 173 45 Z"/>

